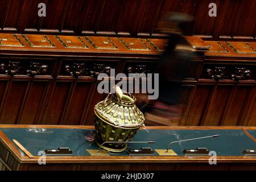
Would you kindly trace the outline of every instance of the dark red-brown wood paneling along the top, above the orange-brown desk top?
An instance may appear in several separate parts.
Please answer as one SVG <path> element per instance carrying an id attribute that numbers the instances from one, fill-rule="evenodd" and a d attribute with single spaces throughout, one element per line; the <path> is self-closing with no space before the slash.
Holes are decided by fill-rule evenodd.
<path id="1" fill-rule="evenodd" d="M 39 3 L 46 3 L 46 17 L 38 16 Z M 209 3 L 216 3 L 217 17 L 208 15 Z M 195 16 L 194 35 L 254 39 L 255 3 L 253 0 L 2 0 L 0 28 L 15 33 L 158 36 L 158 20 L 166 11 L 178 11 Z"/>

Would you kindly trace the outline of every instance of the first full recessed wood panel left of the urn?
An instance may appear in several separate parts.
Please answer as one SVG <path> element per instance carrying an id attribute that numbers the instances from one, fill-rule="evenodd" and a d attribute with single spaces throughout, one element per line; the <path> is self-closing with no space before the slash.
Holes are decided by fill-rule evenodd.
<path id="1" fill-rule="evenodd" d="M 75 90 L 71 97 L 65 125 L 79 125 L 82 114 L 87 110 L 86 102 L 89 99 L 91 82 L 76 82 Z"/>

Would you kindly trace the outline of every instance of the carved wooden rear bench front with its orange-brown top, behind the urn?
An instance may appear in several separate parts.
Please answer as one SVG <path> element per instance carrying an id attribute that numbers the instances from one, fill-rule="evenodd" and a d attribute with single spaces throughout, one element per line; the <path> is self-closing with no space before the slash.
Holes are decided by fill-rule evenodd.
<path id="1" fill-rule="evenodd" d="M 255 126 L 256 43 L 187 40 L 197 56 L 183 83 L 179 125 Z M 163 39 L 0 34 L 0 122 L 92 125 L 94 105 L 106 97 L 97 92 L 97 75 L 110 68 L 115 74 L 158 73 L 165 44 Z"/>

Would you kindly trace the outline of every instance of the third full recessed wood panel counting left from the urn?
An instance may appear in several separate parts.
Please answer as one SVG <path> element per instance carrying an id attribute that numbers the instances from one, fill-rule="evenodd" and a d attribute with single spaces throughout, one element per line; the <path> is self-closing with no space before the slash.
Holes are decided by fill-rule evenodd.
<path id="1" fill-rule="evenodd" d="M 31 89 L 28 90 L 27 101 L 25 101 L 24 109 L 19 119 L 19 124 L 36 124 L 36 114 L 39 113 L 40 106 L 42 106 L 46 86 L 46 81 L 32 82 Z"/>

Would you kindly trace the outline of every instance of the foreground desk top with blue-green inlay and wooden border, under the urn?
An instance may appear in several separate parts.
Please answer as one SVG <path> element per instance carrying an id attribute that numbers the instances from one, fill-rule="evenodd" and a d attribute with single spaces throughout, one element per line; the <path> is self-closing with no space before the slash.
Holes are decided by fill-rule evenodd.
<path id="1" fill-rule="evenodd" d="M 35 129 L 46 129 L 46 131 L 45 133 L 36 133 Z M 49 147 L 71 147 L 73 148 L 73 156 L 47 156 L 47 163 L 208 163 L 210 156 L 184 156 L 181 153 L 182 149 L 196 147 L 207 147 L 209 150 L 216 150 L 217 163 L 256 163 L 255 156 L 244 156 L 242 154 L 242 150 L 256 148 L 256 127 L 148 126 L 147 129 L 150 131 L 149 134 L 145 130 L 140 130 L 133 140 L 155 140 L 155 146 L 148 146 L 148 144 L 147 146 L 129 144 L 129 146 L 166 149 L 167 144 L 174 140 L 204 137 L 212 134 L 220 134 L 222 137 L 174 145 L 172 149 L 177 153 L 177 156 L 159 156 L 158 154 L 154 156 L 129 156 L 125 152 L 110 154 L 110 156 L 90 156 L 86 154 L 86 147 L 98 149 L 98 146 L 84 137 L 88 132 L 94 130 L 94 126 L 0 125 L 0 143 L 2 144 L 1 150 L 3 151 L 3 148 L 9 150 L 20 164 L 37 164 L 39 156 L 36 156 L 36 152 L 40 148 L 42 150 L 54 149 Z M 35 157 L 30 159 L 24 155 L 11 142 L 13 139 L 18 140 Z M 61 143 L 70 143 L 70 146 L 59 146 Z M 43 144 L 44 146 L 42 146 Z M 197 146 L 198 144 L 199 146 Z M 4 152 L 1 154 L 3 155 Z"/>

